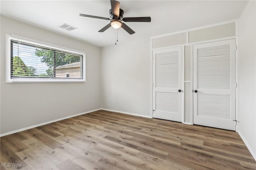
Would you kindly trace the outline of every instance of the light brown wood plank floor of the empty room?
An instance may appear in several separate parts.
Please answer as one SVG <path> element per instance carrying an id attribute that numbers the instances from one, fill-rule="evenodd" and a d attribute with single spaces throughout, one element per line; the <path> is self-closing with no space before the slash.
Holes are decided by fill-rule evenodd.
<path id="1" fill-rule="evenodd" d="M 3 136 L 0 142 L 1 170 L 19 169 L 15 163 L 22 170 L 256 169 L 236 132 L 108 111 Z"/>

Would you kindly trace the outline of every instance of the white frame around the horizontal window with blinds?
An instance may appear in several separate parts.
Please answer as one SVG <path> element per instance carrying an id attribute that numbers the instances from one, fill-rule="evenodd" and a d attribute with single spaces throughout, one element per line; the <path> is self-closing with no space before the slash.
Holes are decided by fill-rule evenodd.
<path id="1" fill-rule="evenodd" d="M 11 78 L 11 40 L 22 41 L 25 43 L 30 43 L 38 46 L 53 48 L 61 51 L 67 51 L 70 53 L 77 53 L 83 56 L 83 79 L 48 79 L 48 78 L 22 78 L 22 79 L 12 79 Z M 15 35 L 6 34 L 6 83 L 26 83 L 26 82 L 86 82 L 86 52 L 78 51 L 75 49 L 69 49 L 66 47 L 61 47 L 58 45 L 53 45 L 50 43 L 40 42 L 37 40 L 32 40 L 29 38 L 24 38 Z"/>

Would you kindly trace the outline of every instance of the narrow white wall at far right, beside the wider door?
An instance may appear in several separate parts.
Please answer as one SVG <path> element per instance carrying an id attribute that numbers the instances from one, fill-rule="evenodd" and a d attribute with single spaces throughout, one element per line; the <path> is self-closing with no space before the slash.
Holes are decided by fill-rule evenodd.
<path id="1" fill-rule="evenodd" d="M 256 2 L 238 20 L 239 134 L 256 159 Z"/>

